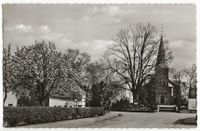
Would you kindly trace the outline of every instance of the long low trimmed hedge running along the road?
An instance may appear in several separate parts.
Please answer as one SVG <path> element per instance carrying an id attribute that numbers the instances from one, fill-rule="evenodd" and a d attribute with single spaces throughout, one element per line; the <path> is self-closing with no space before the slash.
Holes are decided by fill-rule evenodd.
<path id="1" fill-rule="evenodd" d="M 37 124 L 104 115 L 102 107 L 4 107 L 4 125 Z"/>

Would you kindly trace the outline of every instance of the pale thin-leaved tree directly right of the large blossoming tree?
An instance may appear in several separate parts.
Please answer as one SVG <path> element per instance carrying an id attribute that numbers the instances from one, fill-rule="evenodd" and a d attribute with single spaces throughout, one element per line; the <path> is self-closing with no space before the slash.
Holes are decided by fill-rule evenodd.
<path id="1" fill-rule="evenodd" d="M 90 81 L 86 67 L 91 61 L 90 55 L 86 52 L 81 53 L 77 49 L 68 49 L 63 55 L 63 72 L 65 78 L 78 86 L 86 93 L 86 106 L 88 106 Z"/>

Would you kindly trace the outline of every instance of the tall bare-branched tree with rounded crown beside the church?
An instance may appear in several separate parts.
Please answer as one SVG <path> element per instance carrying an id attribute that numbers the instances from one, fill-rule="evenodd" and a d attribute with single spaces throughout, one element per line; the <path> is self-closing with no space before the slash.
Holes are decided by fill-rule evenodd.
<path id="1" fill-rule="evenodd" d="M 151 78 L 158 50 L 156 27 L 147 24 L 130 25 L 121 29 L 108 47 L 105 59 L 110 70 L 128 85 L 133 100 L 138 99 L 138 91 L 145 81 Z M 170 56 L 167 59 L 171 59 Z"/>

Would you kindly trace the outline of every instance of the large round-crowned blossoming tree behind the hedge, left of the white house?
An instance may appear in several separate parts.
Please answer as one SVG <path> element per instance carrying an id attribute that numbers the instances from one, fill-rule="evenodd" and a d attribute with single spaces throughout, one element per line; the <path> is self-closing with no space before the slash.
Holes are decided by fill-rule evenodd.
<path id="1" fill-rule="evenodd" d="M 44 106 L 45 100 L 64 78 L 61 53 L 56 51 L 55 44 L 43 41 L 17 48 L 13 62 L 18 95 L 26 96 L 30 91 L 34 92 L 36 100 Z"/>

